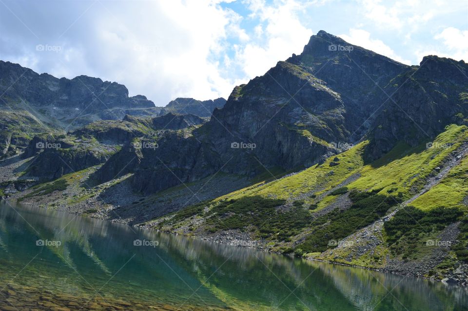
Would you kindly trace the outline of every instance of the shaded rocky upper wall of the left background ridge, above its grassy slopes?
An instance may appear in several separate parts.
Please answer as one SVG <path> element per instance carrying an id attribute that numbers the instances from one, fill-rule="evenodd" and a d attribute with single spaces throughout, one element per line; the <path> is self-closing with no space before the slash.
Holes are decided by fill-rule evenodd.
<path id="1" fill-rule="evenodd" d="M 121 119 L 125 113 L 156 115 L 154 103 L 127 88 L 100 78 L 73 79 L 38 74 L 19 64 L 0 61 L 1 109 L 27 110 L 44 123 L 76 128 L 97 119 Z"/>

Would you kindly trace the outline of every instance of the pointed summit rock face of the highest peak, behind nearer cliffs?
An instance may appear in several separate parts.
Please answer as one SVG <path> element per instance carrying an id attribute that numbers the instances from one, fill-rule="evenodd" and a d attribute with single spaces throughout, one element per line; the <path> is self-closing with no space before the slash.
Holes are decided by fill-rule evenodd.
<path id="1" fill-rule="evenodd" d="M 388 98 L 382 89 L 410 68 L 323 30 L 311 37 L 300 55 L 287 61 L 322 79 L 340 94 L 351 134 L 346 137 L 348 142 L 359 140 L 369 131 L 372 113 Z"/>

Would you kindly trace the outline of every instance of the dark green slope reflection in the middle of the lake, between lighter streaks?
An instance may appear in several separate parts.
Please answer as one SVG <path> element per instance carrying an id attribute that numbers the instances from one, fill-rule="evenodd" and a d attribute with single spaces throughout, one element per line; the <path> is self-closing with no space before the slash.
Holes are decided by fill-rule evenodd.
<path id="1" fill-rule="evenodd" d="M 177 252 L 172 257 L 180 265 L 185 263 L 228 306 L 252 310 L 331 310 L 340 306 L 341 310 L 354 310 L 329 277 L 303 260 L 173 235 L 158 238 L 169 253 Z"/>

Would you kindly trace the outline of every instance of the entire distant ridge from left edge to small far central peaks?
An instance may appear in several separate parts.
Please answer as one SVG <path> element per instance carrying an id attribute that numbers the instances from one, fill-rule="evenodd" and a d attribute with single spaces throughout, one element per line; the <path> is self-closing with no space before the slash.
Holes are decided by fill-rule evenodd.
<path id="1" fill-rule="evenodd" d="M 224 98 L 176 98 L 161 108 L 143 95 L 129 97 L 127 88 L 116 82 L 87 76 L 55 78 L 1 60 L 0 94 L 0 157 L 19 153 L 42 132 L 73 131 L 95 121 L 123 120 L 125 116 L 172 113 L 208 118 L 215 107 L 226 102 Z"/>

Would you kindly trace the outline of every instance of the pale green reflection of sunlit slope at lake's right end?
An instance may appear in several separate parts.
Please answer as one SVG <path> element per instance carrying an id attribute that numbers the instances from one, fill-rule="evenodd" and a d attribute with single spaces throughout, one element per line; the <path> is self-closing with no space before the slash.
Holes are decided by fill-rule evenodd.
<path id="1" fill-rule="evenodd" d="M 467 290 L 441 282 L 402 277 L 341 265 L 319 265 L 338 291 L 352 301 L 358 310 L 463 310 L 468 304 Z M 429 289 L 429 290 L 428 290 Z"/>

